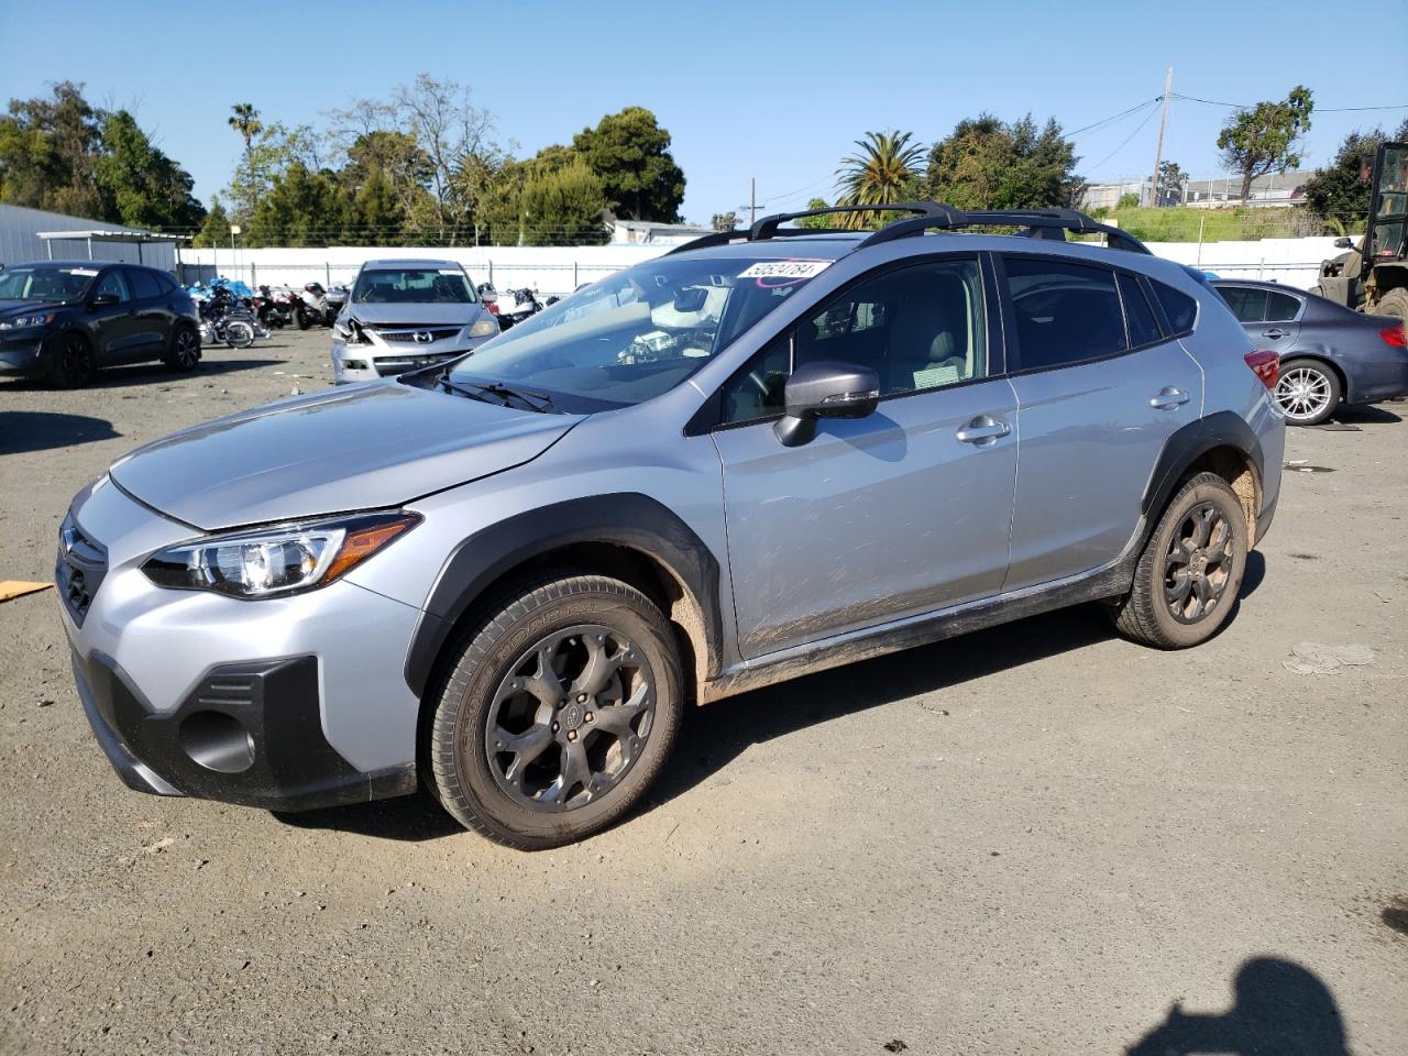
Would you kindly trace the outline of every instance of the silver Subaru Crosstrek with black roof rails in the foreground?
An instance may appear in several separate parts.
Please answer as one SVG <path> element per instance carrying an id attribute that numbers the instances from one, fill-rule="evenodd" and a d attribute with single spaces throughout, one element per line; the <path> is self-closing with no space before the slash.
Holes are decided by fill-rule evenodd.
<path id="1" fill-rule="evenodd" d="M 1217 632 L 1276 510 L 1276 353 L 1079 213 L 886 208 L 115 462 L 58 586 L 117 772 L 270 810 L 424 784 L 546 848 L 639 800 L 689 704 L 1077 603 Z"/>

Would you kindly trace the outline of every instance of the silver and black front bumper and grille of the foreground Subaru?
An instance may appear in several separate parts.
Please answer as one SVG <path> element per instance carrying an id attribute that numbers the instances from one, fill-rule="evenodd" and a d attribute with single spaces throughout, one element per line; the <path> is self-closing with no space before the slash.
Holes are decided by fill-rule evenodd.
<path id="1" fill-rule="evenodd" d="M 414 791 L 418 610 L 345 580 L 259 601 L 152 584 L 146 556 L 191 534 L 106 479 L 65 521 L 75 684 L 122 781 L 266 810 Z"/>

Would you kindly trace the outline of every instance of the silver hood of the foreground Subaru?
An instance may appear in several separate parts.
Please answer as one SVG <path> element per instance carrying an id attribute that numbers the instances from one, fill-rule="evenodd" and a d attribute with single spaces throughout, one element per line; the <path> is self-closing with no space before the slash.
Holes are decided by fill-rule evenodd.
<path id="1" fill-rule="evenodd" d="M 579 417 L 373 382 L 197 425 L 113 463 L 113 480 L 204 531 L 398 505 L 529 462 Z"/>

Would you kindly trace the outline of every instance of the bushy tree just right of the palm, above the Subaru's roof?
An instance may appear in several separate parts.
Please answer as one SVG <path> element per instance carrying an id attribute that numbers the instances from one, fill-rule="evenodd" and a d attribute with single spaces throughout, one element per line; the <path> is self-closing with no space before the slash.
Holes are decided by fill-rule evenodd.
<path id="1" fill-rule="evenodd" d="M 969 210 L 1069 206 L 1084 186 L 1074 145 L 1048 120 L 1007 124 L 993 114 L 959 121 L 929 149 L 925 191 Z"/>

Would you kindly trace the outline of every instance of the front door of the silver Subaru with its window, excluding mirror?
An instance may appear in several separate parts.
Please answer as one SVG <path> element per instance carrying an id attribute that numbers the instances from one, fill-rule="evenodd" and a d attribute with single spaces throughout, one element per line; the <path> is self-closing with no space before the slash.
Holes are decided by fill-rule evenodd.
<path id="1" fill-rule="evenodd" d="M 994 594 L 1007 569 L 1015 400 L 977 255 L 865 279 L 722 390 L 728 559 L 745 658 Z M 879 410 L 800 446 L 773 431 L 801 363 L 876 369 Z"/>

